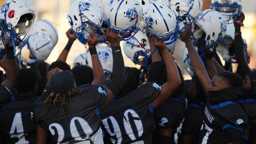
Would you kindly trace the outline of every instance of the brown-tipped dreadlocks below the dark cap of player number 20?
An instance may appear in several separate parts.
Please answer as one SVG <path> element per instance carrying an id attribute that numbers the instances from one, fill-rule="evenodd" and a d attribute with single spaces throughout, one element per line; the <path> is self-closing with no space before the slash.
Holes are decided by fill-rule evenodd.
<path id="1" fill-rule="evenodd" d="M 52 92 L 46 98 L 45 104 L 48 106 L 48 110 L 55 110 L 55 113 L 59 112 L 59 107 L 61 106 L 64 113 L 66 113 L 68 110 L 69 98 L 75 96 L 75 94 L 82 93 L 82 91 L 83 89 L 72 87 L 61 93 Z"/>

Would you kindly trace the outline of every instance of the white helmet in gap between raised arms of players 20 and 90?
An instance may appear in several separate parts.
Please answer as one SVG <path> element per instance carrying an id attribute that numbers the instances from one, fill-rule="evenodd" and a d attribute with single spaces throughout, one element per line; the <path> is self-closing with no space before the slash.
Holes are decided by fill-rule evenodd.
<path id="1" fill-rule="evenodd" d="M 133 63 L 143 67 L 149 66 L 150 45 L 145 29 L 140 29 L 132 38 L 123 42 L 124 54 Z"/>

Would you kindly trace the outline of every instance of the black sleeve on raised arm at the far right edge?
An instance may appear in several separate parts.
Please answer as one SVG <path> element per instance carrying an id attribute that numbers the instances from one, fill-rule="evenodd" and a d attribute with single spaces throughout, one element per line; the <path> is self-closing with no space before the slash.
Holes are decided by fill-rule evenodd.
<path id="1" fill-rule="evenodd" d="M 244 78 L 249 75 L 251 69 L 244 57 L 244 41 L 241 36 L 241 26 L 235 25 L 235 39 L 234 39 L 234 49 L 236 54 L 236 61 L 238 62 L 239 74 Z M 242 69 L 242 70 L 241 70 Z"/>

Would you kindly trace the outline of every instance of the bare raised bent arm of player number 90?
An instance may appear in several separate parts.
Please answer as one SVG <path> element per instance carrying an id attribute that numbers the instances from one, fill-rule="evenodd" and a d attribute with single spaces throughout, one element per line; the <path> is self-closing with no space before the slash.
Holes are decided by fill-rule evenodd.
<path id="1" fill-rule="evenodd" d="M 152 37 L 152 42 L 153 45 L 161 51 L 162 58 L 165 61 L 165 67 L 167 71 L 167 82 L 162 85 L 162 89 L 159 93 L 159 96 L 157 96 L 157 98 L 154 99 L 152 103 L 152 108 L 154 109 L 155 107 L 157 107 L 157 105 L 161 104 L 166 99 L 168 99 L 171 96 L 171 94 L 173 94 L 174 91 L 176 91 L 176 88 L 178 88 L 178 86 L 180 86 L 181 84 L 181 78 L 180 75 L 178 74 L 176 63 L 170 56 L 169 51 L 167 50 L 165 41 L 158 40 L 157 38 Z"/>

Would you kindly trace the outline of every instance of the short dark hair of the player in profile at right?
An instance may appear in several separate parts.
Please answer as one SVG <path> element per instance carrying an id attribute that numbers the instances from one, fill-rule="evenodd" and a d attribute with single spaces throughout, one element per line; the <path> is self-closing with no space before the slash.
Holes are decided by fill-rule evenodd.
<path id="1" fill-rule="evenodd" d="M 237 73 L 224 71 L 224 72 L 217 73 L 217 75 L 219 77 L 225 78 L 225 80 L 227 80 L 227 82 L 230 83 L 230 85 L 233 87 L 241 88 L 243 86 L 243 79 L 241 75 Z"/>

